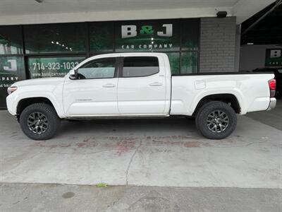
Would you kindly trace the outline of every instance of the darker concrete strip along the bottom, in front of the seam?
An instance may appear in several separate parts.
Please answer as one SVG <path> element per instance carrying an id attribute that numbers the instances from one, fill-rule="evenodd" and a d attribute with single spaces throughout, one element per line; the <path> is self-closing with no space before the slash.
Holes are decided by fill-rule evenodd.
<path id="1" fill-rule="evenodd" d="M 280 212 L 281 189 L 2 184 L 0 211 Z"/>

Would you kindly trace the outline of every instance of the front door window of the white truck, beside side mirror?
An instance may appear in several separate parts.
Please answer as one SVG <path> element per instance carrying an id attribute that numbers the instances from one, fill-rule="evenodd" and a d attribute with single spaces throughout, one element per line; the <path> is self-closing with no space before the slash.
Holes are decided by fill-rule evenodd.
<path id="1" fill-rule="evenodd" d="M 116 58 L 95 59 L 78 69 L 78 79 L 114 78 Z"/>

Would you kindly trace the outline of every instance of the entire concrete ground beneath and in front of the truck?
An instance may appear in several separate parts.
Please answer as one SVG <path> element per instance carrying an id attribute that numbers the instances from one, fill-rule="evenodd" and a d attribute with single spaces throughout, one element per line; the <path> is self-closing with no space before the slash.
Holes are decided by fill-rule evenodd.
<path id="1" fill-rule="evenodd" d="M 2 111 L 0 211 L 282 211 L 279 114 L 221 141 L 187 119 L 63 122 L 32 141 Z"/>

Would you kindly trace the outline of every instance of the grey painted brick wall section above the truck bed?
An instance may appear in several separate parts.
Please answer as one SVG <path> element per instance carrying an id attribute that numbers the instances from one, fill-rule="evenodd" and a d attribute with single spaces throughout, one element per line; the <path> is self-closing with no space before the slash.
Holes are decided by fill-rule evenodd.
<path id="1" fill-rule="evenodd" d="M 201 18 L 200 72 L 237 71 L 236 18 Z"/>

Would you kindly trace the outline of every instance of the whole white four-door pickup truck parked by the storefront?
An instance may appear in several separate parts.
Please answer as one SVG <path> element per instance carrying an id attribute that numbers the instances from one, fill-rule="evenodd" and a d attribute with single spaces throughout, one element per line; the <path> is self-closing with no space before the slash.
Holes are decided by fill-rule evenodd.
<path id="1" fill-rule="evenodd" d="M 8 112 L 31 139 L 50 139 L 60 119 L 195 117 L 209 139 L 229 136 L 236 114 L 276 105 L 272 73 L 197 73 L 171 76 L 164 53 L 102 54 L 64 78 L 39 78 L 8 88 Z"/>

